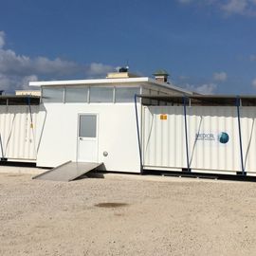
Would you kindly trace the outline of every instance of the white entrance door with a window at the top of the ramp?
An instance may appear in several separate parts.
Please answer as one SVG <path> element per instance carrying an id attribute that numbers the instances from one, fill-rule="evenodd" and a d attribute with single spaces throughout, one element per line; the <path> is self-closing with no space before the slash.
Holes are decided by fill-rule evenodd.
<path id="1" fill-rule="evenodd" d="M 78 162 L 97 162 L 98 156 L 98 116 L 79 115 Z"/>

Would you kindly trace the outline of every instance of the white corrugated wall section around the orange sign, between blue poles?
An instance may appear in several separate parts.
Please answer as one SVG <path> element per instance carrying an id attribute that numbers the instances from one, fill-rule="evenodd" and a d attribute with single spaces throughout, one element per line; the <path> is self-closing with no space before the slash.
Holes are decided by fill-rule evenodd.
<path id="1" fill-rule="evenodd" d="M 168 114 L 168 119 L 161 120 L 161 114 Z M 144 108 L 144 165 L 177 168 L 185 166 L 184 137 L 178 128 L 182 127 L 182 122 L 182 108 L 180 107 L 151 106 Z M 177 139 L 179 141 L 176 141 Z"/>

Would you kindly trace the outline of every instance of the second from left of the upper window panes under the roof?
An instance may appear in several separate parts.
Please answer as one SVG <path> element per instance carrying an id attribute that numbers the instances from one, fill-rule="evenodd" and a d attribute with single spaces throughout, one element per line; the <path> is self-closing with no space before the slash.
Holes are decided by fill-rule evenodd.
<path id="1" fill-rule="evenodd" d="M 86 87 L 66 87 L 64 101 L 69 102 L 87 102 L 88 88 Z"/>

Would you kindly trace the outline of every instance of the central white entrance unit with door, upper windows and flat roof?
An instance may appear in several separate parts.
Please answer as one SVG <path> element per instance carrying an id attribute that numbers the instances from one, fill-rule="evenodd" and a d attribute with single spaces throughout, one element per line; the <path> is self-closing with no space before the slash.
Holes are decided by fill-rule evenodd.
<path id="1" fill-rule="evenodd" d="M 37 166 L 102 162 L 102 170 L 140 172 L 135 95 L 190 92 L 149 78 L 31 82 L 41 86 Z M 137 115 L 141 121 L 141 104 Z"/>

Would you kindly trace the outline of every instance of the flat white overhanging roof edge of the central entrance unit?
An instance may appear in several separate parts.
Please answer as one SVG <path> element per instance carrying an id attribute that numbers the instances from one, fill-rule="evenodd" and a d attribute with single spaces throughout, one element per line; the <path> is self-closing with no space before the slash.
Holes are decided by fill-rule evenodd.
<path id="1" fill-rule="evenodd" d="M 142 82 L 142 84 L 141 84 Z M 177 87 L 173 84 L 158 82 L 154 79 L 148 77 L 138 77 L 138 78 L 121 78 L 121 79 L 86 79 L 86 80 L 66 80 L 66 81 L 39 81 L 39 82 L 29 82 L 30 86 L 56 86 L 56 85 L 82 85 L 82 84 L 118 84 L 118 83 L 150 83 L 159 87 L 164 87 L 166 89 L 172 89 L 181 93 L 192 94 L 191 91 Z"/>

